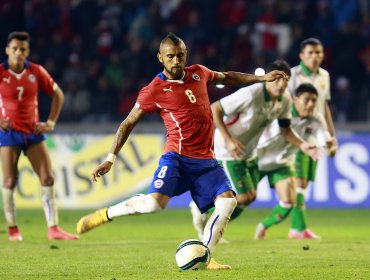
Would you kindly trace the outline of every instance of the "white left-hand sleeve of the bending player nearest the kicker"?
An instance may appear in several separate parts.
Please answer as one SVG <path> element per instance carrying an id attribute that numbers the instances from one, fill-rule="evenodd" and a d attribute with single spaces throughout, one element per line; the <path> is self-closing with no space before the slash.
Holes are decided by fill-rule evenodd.
<path id="1" fill-rule="evenodd" d="M 253 94 L 248 87 L 243 87 L 236 92 L 221 98 L 219 103 L 224 115 L 234 115 L 248 108 L 253 99 Z"/>

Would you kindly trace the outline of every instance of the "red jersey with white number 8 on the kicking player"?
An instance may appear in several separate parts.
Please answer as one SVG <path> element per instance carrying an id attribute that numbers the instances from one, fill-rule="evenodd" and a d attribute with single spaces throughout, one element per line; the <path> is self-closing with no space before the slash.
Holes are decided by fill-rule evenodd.
<path id="1" fill-rule="evenodd" d="M 214 158 L 214 126 L 207 90 L 214 79 L 216 72 L 192 65 L 185 67 L 182 80 L 168 80 L 160 73 L 140 90 L 136 108 L 159 112 L 166 126 L 165 153 Z"/>

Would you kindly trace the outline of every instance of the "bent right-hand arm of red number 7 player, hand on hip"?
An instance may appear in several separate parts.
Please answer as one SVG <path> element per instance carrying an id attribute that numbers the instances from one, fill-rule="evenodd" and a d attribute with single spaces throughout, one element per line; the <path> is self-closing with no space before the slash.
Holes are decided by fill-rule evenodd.
<path id="1" fill-rule="evenodd" d="M 54 85 L 54 94 L 51 100 L 50 114 L 46 122 L 38 122 L 35 124 L 34 133 L 41 134 L 51 132 L 58 120 L 64 103 L 64 93 L 57 84 Z"/>

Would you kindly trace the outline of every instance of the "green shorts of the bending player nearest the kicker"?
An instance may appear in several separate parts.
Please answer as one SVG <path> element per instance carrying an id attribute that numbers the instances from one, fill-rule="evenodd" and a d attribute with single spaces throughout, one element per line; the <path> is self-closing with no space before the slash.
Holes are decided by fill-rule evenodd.
<path id="1" fill-rule="evenodd" d="M 257 159 L 251 161 L 219 160 L 218 162 L 224 168 L 237 194 L 257 189 L 260 181 Z"/>

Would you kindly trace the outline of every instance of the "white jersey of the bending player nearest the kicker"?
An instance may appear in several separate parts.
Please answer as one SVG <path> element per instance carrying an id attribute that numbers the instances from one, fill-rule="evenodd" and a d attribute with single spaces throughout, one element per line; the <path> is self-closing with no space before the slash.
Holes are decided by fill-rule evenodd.
<path id="1" fill-rule="evenodd" d="M 291 119 L 292 99 L 289 92 L 284 92 L 272 102 L 262 83 L 243 87 L 219 102 L 229 133 L 245 145 L 246 160 L 254 157 L 258 139 L 273 120 Z M 215 154 L 217 159 L 233 159 L 218 129 L 215 131 Z"/>

